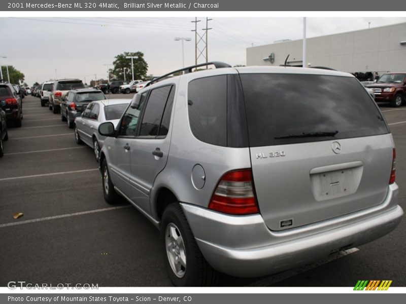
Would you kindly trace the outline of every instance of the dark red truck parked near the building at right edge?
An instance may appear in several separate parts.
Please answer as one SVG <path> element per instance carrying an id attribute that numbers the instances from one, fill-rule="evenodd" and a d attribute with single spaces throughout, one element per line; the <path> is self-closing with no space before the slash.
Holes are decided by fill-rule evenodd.
<path id="1" fill-rule="evenodd" d="M 394 107 L 400 106 L 406 97 L 406 72 L 386 73 L 367 88 L 373 89 L 376 102 L 390 102 Z"/>

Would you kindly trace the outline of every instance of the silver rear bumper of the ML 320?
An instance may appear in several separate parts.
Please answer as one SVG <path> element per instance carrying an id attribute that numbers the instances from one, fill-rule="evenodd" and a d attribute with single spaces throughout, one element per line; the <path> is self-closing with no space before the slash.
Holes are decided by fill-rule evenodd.
<path id="1" fill-rule="evenodd" d="M 397 196 L 398 186 L 391 184 L 387 198 L 377 207 L 282 232 L 270 231 L 259 214 L 230 216 L 181 206 L 202 254 L 214 269 L 256 277 L 308 264 L 390 233 L 403 215 Z"/>

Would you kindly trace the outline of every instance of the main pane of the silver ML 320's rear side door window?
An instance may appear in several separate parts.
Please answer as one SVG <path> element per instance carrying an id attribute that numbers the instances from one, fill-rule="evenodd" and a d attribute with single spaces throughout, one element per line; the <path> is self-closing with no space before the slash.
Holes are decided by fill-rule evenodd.
<path id="1" fill-rule="evenodd" d="M 151 91 L 141 123 L 140 136 L 157 136 L 163 110 L 168 99 L 171 86 L 157 88 Z"/>

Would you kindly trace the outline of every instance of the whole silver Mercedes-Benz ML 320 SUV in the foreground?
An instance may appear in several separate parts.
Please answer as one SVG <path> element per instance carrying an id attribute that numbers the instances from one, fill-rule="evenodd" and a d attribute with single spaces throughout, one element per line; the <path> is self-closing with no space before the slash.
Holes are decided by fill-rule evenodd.
<path id="1" fill-rule="evenodd" d="M 175 285 L 281 272 L 395 229 L 393 138 L 351 74 L 214 64 L 153 81 L 99 126 L 105 199 L 160 229 Z"/>

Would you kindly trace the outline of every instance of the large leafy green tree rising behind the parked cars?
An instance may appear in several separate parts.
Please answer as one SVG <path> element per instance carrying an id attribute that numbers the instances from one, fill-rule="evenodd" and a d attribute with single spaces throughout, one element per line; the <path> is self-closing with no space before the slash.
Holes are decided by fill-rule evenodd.
<path id="1" fill-rule="evenodd" d="M 131 79 L 132 74 L 131 74 L 131 59 L 125 58 L 126 56 L 138 56 L 137 59 L 133 59 L 134 62 L 134 79 L 146 79 L 147 77 L 147 71 L 148 71 L 148 64 L 144 60 L 144 53 L 142 52 L 124 52 L 122 54 L 117 55 L 114 57 L 116 60 L 114 60 L 113 65 L 114 68 L 110 69 L 110 79 L 116 79 L 116 80 L 124 80 L 124 67 L 127 69 L 127 75 L 129 77 L 126 77 L 126 80 Z"/>

